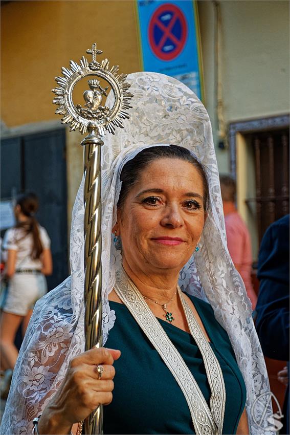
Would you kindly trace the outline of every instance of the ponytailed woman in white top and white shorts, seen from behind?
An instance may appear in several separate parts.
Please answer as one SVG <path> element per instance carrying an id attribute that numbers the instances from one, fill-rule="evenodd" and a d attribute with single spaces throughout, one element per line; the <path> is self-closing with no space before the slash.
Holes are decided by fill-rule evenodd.
<path id="1" fill-rule="evenodd" d="M 44 275 L 52 273 L 50 238 L 34 217 L 38 199 L 34 193 L 18 198 L 14 214 L 16 225 L 6 231 L 3 247 L 9 281 L 1 318 L 1 353 L 6 369 L 13 369 L 18 356 L 14 345 L 22 322 L 23 336 L 36 301 L 47 292 Z"/>

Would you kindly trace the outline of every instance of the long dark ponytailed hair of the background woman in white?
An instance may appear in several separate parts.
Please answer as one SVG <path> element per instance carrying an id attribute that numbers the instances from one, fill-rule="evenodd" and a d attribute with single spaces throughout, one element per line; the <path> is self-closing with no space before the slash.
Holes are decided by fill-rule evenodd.
<path id="1" fill-rule="evenodd" d="M 32 234 L 33 245 L 31 257 L 37 259 L 40 257 L 43 248 L 39 236 L 38 222 L 34 217 L 35 212 L 38 210 L 38 198 L 35 193 L 25 193 L 17 198 L 16 205 L 20 206 L 21 212 L 28 217 L 27 221 L 19 222 L 15 228 L 23 228 L 27 234 Z M 21 237 L 21 238 L 24 238 Z"/>

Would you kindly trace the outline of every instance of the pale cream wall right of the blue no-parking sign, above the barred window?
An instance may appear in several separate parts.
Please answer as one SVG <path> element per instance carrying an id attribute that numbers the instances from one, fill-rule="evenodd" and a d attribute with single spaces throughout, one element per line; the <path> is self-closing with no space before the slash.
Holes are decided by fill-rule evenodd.
<path id="1" fill-rule="evenodd" d="M 289 2 L 220 0 L 221 86 L 226 125 L 289 112 Z M 206 107 L 216 119 L 216 2 L 199 1 Z M 221 172 L 230 170 L 227 150 L 216 148 Z"/>

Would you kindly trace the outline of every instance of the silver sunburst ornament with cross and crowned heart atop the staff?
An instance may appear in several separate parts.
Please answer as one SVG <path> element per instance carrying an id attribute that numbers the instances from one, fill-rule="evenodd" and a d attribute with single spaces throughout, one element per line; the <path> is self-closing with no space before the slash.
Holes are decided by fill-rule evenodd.
<path id="1" fill-rule="evenodd" d="M 55 77 L 58 87 L 52 90 L 56 94 L 53 103 L 59 106 L 55 113 L 64 115 L 61 122 L 71 124 L 71 131 L 79 129 L 81 134 L 84 134 L 90 125 L 100 136 L 104 135 L 105 130 L 115 134 L 116 127 L 122 128 L 123 120 L 129 118 L 126 111 L 131 108 L 129 101 L 132 94 L 128 92 L 130 83 L 126 82 L 126 74 L 118 73 L 118 65 L 110 67 L 108 59 L 97 61 L 97 55 L 101 54 L 102 50 L 97 50 L 96 43 L 92 45 L 92 49 L 86 50 L 86 53 L 92 55 L 91 62 L 88 62 L 84 56 L 80 59 L 80 64 L 71 60 L 71 68 L 62 67 L 63 76 Z M 104 79 L 111 86 L 115 96 L 113 107 L 102 106 L 103 97 L 107 96 L 108 86 L 103 89 L 98 78 L 88 80 L 90 90 L 83 94 L 84 107 L 80 104 L 74 105 L 74 87 L 88 76 Z"/>

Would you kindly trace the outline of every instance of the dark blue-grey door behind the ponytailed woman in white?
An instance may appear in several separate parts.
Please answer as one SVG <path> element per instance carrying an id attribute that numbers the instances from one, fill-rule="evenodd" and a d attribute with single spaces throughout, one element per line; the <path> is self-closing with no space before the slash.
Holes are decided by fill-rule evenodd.
<path id="1" fill-rule="evenodd" d="M 58 129 L 1 141 L 2 198 L 33 191 L 39 198 L 37 219 L 51 238 L 53 274 L 49 290 L 68 276 L 65 130 Z"/>

